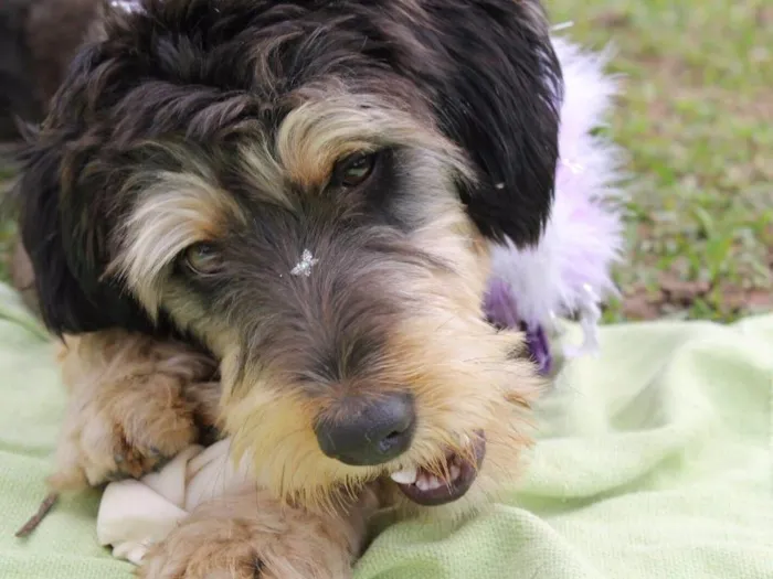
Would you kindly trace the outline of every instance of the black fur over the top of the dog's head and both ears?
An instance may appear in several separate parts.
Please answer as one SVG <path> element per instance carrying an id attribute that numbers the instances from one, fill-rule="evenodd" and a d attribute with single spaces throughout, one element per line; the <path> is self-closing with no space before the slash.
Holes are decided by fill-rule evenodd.
<path id="1" fill-rule="evenodd" d="M 483 234 L 517 245 L 539 238 L 553 194 L 561 72 L 536 0 L 145 8 L 108 17 L 106 39 L 76 57 L 25 157 L 21 230 L 52 331 L 151 331 L 120 282 L 105 277 L 107 236 L 129 203 L 117 191 L 139 162 L 138 139 L 226 144 L 251 120 L 277 122 L 282 111 L 264 105 L 326 75 L 414 90 L 474 163 L 476 182 L 458 187 Z M 256 76 L 251 50 L 279 36 L 271 78 Z"/>

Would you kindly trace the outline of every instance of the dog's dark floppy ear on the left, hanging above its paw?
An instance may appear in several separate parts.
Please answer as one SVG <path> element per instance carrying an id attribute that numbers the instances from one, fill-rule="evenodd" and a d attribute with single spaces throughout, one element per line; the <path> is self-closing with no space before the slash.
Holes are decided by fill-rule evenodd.
<path id="1" fill-rule="evenodd" d="M 152 328 L 137 301 L 104 276 L 107 187 L 80 179 L 89 173 L 89 152 L 99 149 L 98 137 L 84 132 L 88 82 L 98 63 L 98 43 L 73 58 L 42 127 L 27 131 L 11 199 L 41 317 L 57 335 Z"/>

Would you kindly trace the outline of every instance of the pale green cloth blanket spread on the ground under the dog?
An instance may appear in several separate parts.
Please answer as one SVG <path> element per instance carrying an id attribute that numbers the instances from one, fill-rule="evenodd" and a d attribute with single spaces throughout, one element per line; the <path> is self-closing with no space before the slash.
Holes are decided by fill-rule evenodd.
<path id="1" fill-rule="evenodd" d="M 358 579 L 773 578 L 773 315 L 602 330 L 542 403 L 509 498 L 452 534 L 389 527 Z M 128 578 L 96 492 L 28 539 L 64 404 L 51 347 L 0 287 L 0 578 Z"/>

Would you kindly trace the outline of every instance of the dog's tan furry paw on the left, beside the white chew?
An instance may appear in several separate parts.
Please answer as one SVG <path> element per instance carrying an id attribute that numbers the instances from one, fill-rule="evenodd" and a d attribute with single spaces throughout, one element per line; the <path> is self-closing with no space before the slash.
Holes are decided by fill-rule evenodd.
<path id="1" fill-rule="evenodd" d="M 50 485 L 76 490 L 139 478 L 193 443 L 198 429 L 184 385 L 157 373 L 74 389 Z"/>

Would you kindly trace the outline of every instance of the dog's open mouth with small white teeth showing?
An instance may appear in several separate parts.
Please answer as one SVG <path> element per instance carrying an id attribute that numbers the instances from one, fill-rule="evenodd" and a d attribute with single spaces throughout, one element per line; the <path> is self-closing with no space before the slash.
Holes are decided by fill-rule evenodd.
<path id="1" fill-rule="evenodd" d="M 472 452 L 465 457 L 457 452 L 446 455 L 446 474 L 443 478 L 421 467 L 393 472 L 390 478 L 407 498 L 419 505 L 453 503 L 469 491 L 478 476 L 486 455 L 486 438 L 481 431 L 476 432 L 469 448 Z"/>

